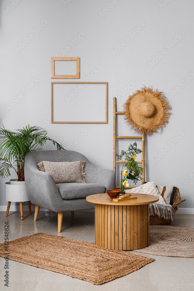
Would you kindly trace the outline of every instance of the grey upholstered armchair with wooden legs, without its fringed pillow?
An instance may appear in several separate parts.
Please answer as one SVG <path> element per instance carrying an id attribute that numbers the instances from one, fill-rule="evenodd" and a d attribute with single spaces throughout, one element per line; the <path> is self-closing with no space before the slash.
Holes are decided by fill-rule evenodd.
<path id="1" fill-rule="evenodd" d="M 86 183 L 55 184 L 53 177 L 39 171 L 37 164 L 41 161 L 49 162 L 86 162 Z M 37 220 L 41 207 L 58 212 L 58 232 L 61 232 L 63 212 L 93 209 L 93 203 L 86 201 L 86 196 L 105 193 L 114 189 L 115 172 L 100 169 L 92 165 L 79 152 L 72 150 L 42 150 L 30 152 L 25 157 L 24 175 L 27 193 L 35 204 L 34 221 Z"/>

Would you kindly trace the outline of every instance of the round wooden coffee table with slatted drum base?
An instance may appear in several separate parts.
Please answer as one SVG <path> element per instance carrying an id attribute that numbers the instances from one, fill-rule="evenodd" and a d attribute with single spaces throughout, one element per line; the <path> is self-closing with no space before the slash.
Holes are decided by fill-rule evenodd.
<path id="1" fill-rule="evenodd" d="M 137 199 L 115 202 L 106 193 L 86 200 L 95 203 L 95 244 L 106 249 L 135 250 L 149 245 L 149 204 L 159 198 L 131 194 Z"/>

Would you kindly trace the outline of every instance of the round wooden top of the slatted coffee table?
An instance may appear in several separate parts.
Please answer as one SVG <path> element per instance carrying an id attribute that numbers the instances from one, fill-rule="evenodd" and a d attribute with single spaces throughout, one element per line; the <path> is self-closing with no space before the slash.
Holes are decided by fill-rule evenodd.
<path id="1" fill-rule="evenodd" d="M 136 199 L 114 201 L 108 196 L 107 193 L 93 194 L 86 197 L 86 200 L 95 204 L 106 204 L 106 205 L 144 205 L 157 202 L 159 198 L 154 195 L 131 193 L 131 196 L 137 197 Z"/>

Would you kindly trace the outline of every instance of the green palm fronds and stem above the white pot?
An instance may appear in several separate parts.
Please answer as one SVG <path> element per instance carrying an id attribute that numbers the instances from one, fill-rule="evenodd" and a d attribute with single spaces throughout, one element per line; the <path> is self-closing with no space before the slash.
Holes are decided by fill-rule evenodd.
<path id="1" fill-rule="evenodd" d="M 17 173 L 18 180 L 24 181 L 24 161 L 25 155 L 29 152 L 40 150 L 47 141 L 56 145 L 57 150 L 65 150 L 62 145 L 50 139 L 47 131 L 42 127 L 26 126 L 16 132 L 3 128 L 0 129 L 1 157 L 3 163 L 0 166 L 0 176 L 9 177 L 10 169 L 13 168 Z"/>

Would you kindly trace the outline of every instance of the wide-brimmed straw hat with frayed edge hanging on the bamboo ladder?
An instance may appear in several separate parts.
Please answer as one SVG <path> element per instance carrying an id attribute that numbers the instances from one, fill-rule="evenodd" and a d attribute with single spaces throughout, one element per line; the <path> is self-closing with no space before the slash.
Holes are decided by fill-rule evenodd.
<path id="1" fill-rule="evenodd" d="M 172 109 L 166 100 L 163 92 L 153 88 L 141 88 L 129 96 L 124 106 L 124 120 L 136 132 L 151 134 L 162 132 L 163 127 L 168 123 L 170 110 Z"/>

